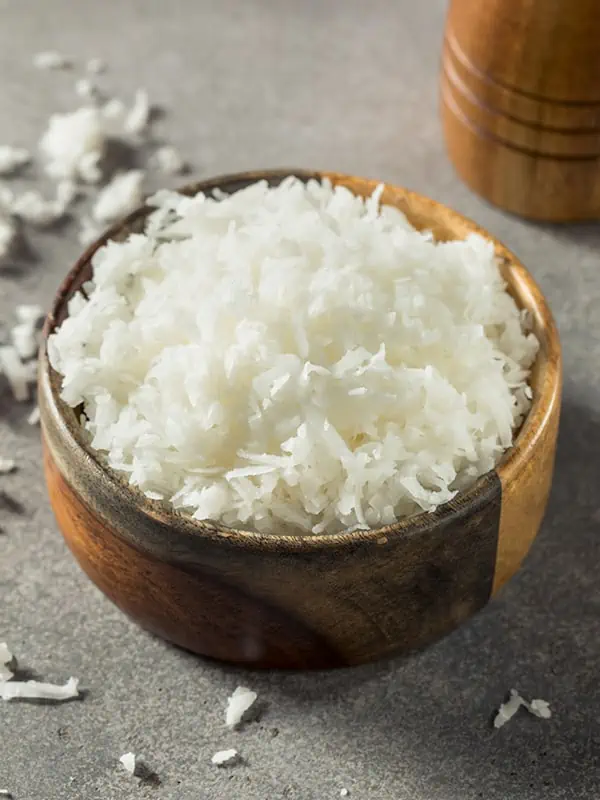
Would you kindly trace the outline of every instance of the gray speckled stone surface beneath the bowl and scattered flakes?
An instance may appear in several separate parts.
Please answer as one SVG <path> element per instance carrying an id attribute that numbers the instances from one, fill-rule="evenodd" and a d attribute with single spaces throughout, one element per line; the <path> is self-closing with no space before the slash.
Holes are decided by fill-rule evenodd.
<path id="1" fill-rule="evenodd" d="M 468 214 L 524 260 L 561 330 L 566 381 L 552 501 L 520 574 L 472 622 L 406 660 L 320 675 L 247 674 L 140 631 L 83 577 L 57 532 L 38 433 L 6 387 L 0 640 L 48 679 L 81 678 L 82 702 L 0 707 L 0 788 L 17 800 L 240 798 L 592 800 L 600 796 L 600 229 L 506 216 L 473 196 L 445 157 L 437 119 L 441 0 L 0 0 L 0 141 L 35 147 L 48 115 L 76 102 L 76 73 L 40 73 L 40 49 L 105 58 L 108 87 L 150 89 L 160 132 L 208 176 L 324 167 L 408 185 Z M 33 174 L 33 173 L 32 173 Z M 31 181 L 20 181 L 22 185 Z M 156 180 L 153 181 L 156 185 Z M 152 181 L 151 181 L 152 183 Z M 29 235 L 31 258 L 0 277 L 0 320 L 50 301 L 78 252 L 72 225 Z M 223 726 L 230 690 L 265 702 Z M 503 730 L 516 687 L 552 704 Z M 210 765 L 235 746 L 245 763 Z M 161 778 L 138 785 L 127 750 Z"/>

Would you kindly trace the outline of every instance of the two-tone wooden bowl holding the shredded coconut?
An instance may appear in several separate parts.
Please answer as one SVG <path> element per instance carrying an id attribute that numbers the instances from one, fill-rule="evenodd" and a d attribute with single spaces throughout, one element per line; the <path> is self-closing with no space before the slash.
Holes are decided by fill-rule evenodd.
<path id="1" fill-rule="evenodd" d="M 183 191 L 233 191 L 259 178 L 277 184 L 288 174 L 227 176 Z M 294 174 L 328 177 L 362 196 L 377 185 L 332 173 Z M 438 239 L 480 230 L 405 189 L 386 186 L 383 202 Z M 109 238 L 140 230 L 148 211 L 115 226 L 77 262 L 54 301 L 46 338 L 90 278 L 94 252 Z M 378 530 L 265 535 L 197 522 L 148 500 L 86 445 L 77 413 L 59 397 L 60 379 L 44 346 L 39 401 L 50 500 L 94 583 L 154 633 L 196 653 L 254 667 L 370 661 L 422 647 L 482 608 L 519 567 L 540 526 L 561 388 L 558 335 L 544 298 L 515 256 L 492 241 L 510 291 L 531 311 L 541 341 L 532 410 L 497 469 L 435 513 Z"/>

